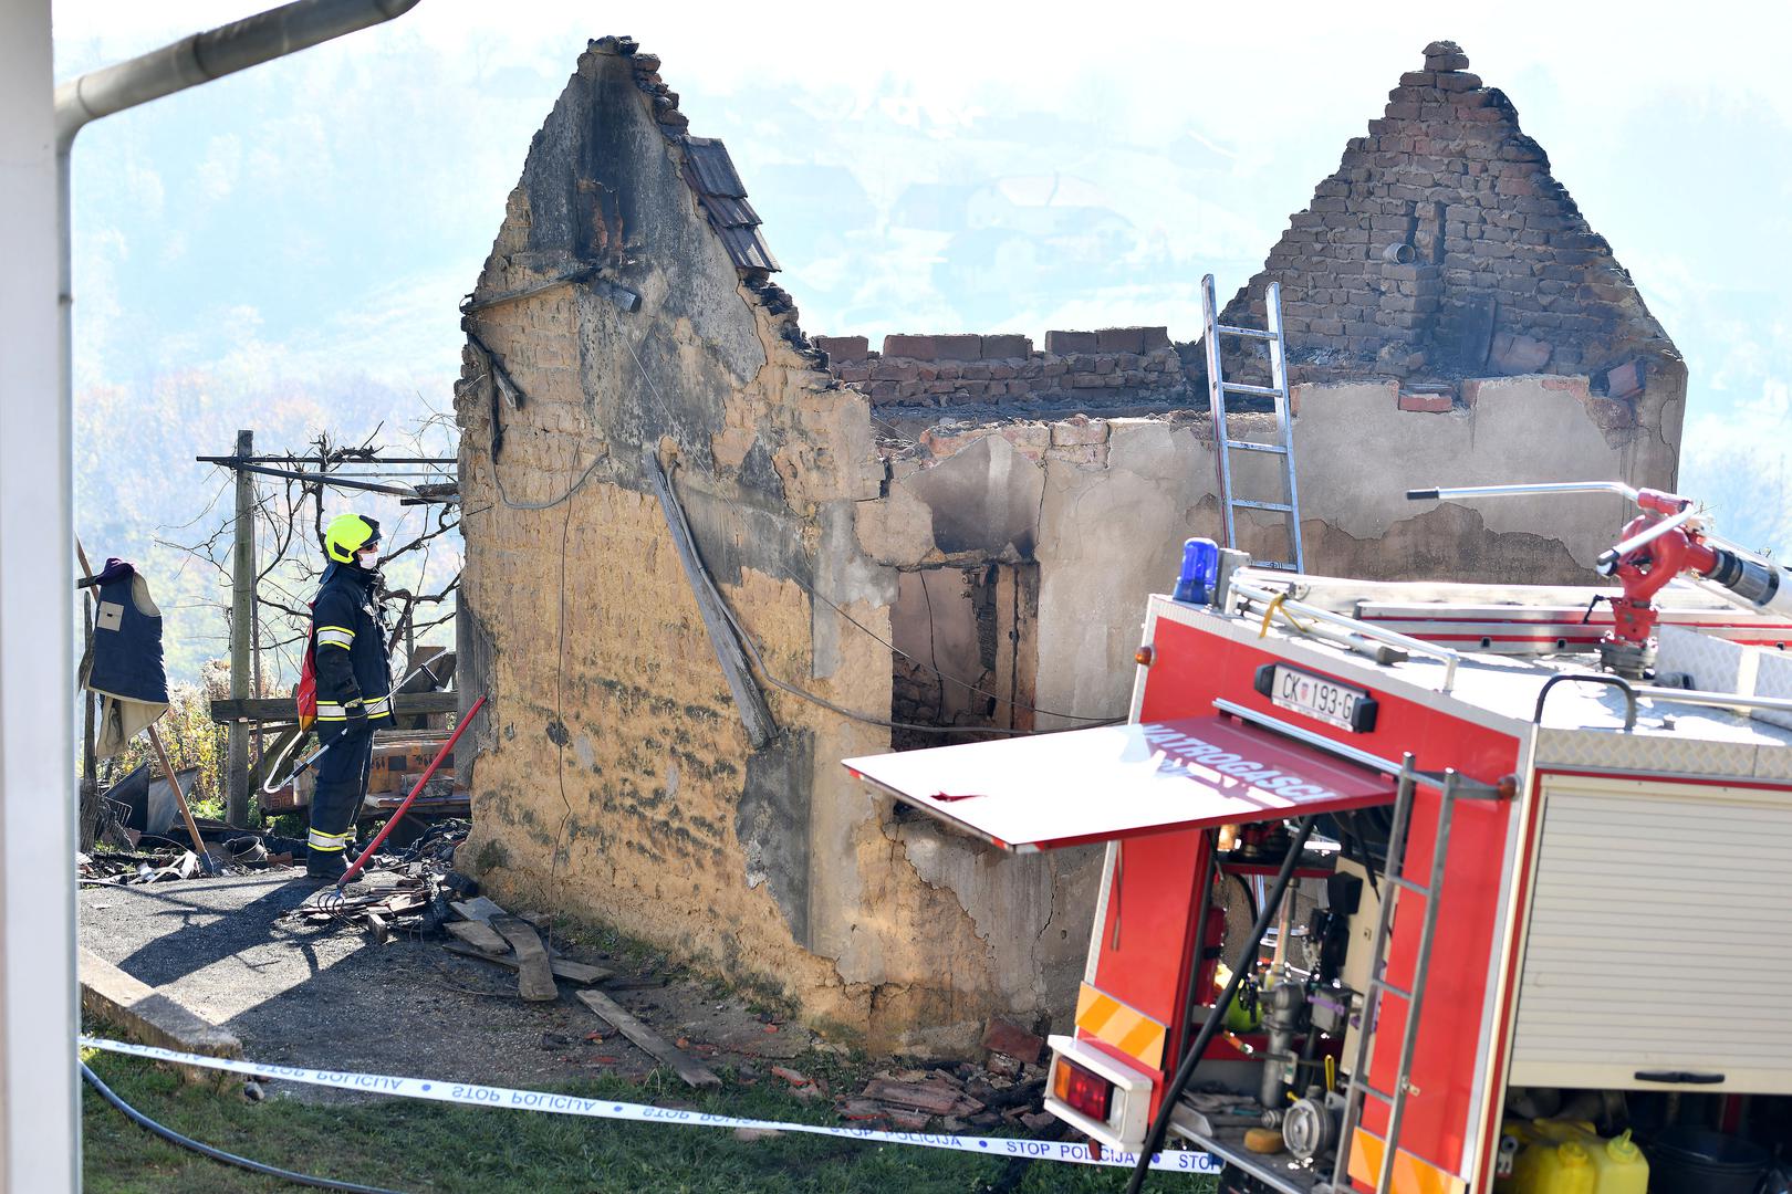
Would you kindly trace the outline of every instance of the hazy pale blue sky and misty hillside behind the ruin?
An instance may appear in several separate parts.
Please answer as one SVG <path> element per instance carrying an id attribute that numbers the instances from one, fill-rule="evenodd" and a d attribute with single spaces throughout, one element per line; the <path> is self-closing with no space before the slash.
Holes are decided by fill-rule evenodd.
<path id="1" fill-rule="evenodd" d="M 63 0 L 57 79 L 253 7 Z M 306 419 L 450 406 L 455 303 L 602 34 L 659 54 L 692 132 L 728 143 L 805 329 L 873 342 L 1192 338 L 1199 277 L 1256 272 L 1452 38 L 1686 356 L 1681 489 L 1745 542 L 1792 539 L 1792 75 L 1751 48 L 1787 43 L 1787 4 L 421 0 L 81 134 L 77 396 L 172 424 L 129 462 L 172 482 L 151 517 L 201 514 L 217 483 L 190 456 L 228 451 L 220 428 L 303 448 Z"/>

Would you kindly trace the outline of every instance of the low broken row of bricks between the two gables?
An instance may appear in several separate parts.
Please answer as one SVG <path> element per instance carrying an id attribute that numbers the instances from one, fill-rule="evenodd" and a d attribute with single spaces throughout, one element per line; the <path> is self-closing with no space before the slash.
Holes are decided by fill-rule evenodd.
<path id="1" fill-rule="evenodd" d="M 1034 351 L 1021 335 L 814 337 L 828 371 L 873 406 L 1149 403 L 1195 397 L 1167 328 L 1048 331 Z"/>

